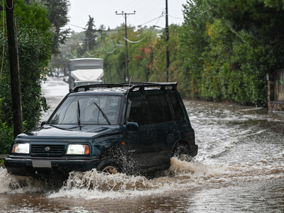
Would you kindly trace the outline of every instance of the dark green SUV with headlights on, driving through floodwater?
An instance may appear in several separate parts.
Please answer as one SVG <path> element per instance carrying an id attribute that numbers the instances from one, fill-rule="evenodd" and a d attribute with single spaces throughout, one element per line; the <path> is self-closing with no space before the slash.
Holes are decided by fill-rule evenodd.
<path id="1" fill-rule="evenodd" d="M 13 175 L 68 175 L 93 168 L 153 173 L 197 155 L 177 83 L 75 87 L 39 131 L 21 133 L 5 166 Z"/>

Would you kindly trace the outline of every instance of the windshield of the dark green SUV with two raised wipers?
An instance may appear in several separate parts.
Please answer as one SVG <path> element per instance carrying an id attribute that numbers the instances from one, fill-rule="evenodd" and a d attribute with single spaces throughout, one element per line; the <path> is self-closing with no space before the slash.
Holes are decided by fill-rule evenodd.
<path id="1" fill-rule="evenodd" d="M 55 111 L 49 124 L 117 124 L 120 104 L 120 96 L 70 96 Z"/>

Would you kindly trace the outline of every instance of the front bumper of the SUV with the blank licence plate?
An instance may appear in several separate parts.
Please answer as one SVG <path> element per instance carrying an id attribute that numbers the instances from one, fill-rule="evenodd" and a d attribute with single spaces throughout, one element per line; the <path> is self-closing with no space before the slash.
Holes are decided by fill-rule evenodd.
<path id="1" fill-rule="evenodd" d="M 33 177 L 68 175 L 74 170 L 84 172 L 97 168 L 99 158 L 18 158 L 10 155 L 4 160 L 4 165 L 12 175 Z"/>

